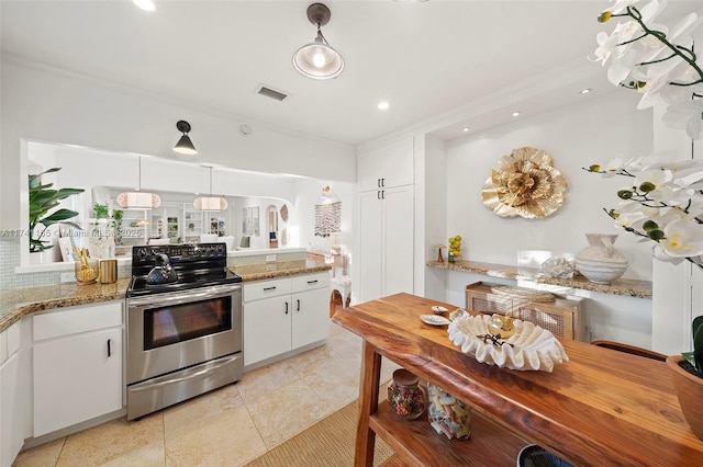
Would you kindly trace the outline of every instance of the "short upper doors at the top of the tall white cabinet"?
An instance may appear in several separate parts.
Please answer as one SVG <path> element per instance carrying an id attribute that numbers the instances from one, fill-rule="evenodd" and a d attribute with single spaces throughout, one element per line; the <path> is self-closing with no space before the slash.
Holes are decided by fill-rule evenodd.
<path id="1" fill-rule="evenodd" d="M 414 183 L 413 140 L 404 140 L 360 152 L 357 158 L 359 191 Z"/>

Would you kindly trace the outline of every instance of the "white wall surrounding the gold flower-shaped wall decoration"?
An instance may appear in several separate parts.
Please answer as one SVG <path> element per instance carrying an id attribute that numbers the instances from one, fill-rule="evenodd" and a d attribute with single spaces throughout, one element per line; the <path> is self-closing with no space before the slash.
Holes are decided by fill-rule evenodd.
<path id="1" fill-rule="evenodd" d="M 621 152 L 651 151 L 651 112 L 636 111 L 637 96 L 616 91 L 447 143 L 447 234 L 462 236 L 462 259 L 516 264 L 518 250 L 577 253 L 588 246 L 585 232 L 610 232 L 620 234 L 615 246 L 629 261 L 624 277 L 651 280 L 651 246 L 637 243 L 602 209 L 615 207 L 624 181 L 581 169 Z M 522 146 L 544 149 L 569 184 L 566 203 L 551 216 L 499 217 L 481 201 L 495 162 Z"/>

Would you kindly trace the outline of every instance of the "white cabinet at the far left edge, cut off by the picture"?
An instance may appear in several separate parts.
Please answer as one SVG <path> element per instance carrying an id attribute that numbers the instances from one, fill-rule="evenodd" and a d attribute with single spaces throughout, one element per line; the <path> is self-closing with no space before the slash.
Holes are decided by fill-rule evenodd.
<path id="1" fill-rule="evenodd" d="M 10 466 L 24 444 L 26 388 L 20 377 L 20 323 L 0 333 L 0 466 Z"/>

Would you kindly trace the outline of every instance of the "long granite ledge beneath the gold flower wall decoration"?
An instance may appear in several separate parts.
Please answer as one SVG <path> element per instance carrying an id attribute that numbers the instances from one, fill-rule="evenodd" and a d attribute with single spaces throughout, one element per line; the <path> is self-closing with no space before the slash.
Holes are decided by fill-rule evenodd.
<path id="1" fill-rule="evenodd" d="M 464 271 L 483 274 L 490 277 L 514 278 L 532 281 L 539 284 L 559 285 L 562 287 L 580 288 L 583 291 L 601 292 L 603 294 L 626 295 L 637 298 L 651 298 L 651 282 L 618 278 L 610 284 L 595 284 L 578 275 L 573 278 L 557 278 L 540 275 L 534 267 L 509 266 L 504 264 L 481 263 L 476 261 L 457 261 L 456 263 L 427 261 L 427 266 L 451 271 Z"/>

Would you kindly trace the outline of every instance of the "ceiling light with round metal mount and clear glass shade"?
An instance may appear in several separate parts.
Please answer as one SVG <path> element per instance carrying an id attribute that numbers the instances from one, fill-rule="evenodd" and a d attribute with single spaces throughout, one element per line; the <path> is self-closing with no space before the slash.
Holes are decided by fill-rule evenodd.
<path id="1" fill-rule="evenodd" d="M 312 79 L 336 78 L 344 70 L 344 58 L 322 35 L 321 26 L 330 22 L 332 13 L 323 3 L 308 7 L 308 20 L 317 26 L 317 37 L 305 44 L 293 54 L 293 67 L 299 73 Z"/>

